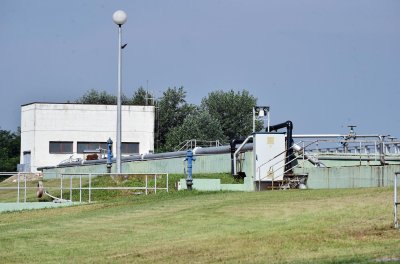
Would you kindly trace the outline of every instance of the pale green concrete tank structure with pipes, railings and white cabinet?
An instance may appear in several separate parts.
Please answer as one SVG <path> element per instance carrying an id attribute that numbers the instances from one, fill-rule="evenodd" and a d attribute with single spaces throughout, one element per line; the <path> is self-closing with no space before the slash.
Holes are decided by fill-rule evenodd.
<path id="1" fill-rule="evenodd" d="M 400 170 L 400 142 L 380 134 L 300 135 L 286 121 L 234 139 L 229 145 L 144 153 L 122 158 L 124 173 L 186 173 L 179 189 L 263 191 L 293 188 L 359 188 L 393 184 Z M 38 168 L 52 175 L 115 172 L 115 159 L 81 160 Z M 111 170 L 110 170 L 111 167 Z M 109 170 L 108 170 L 109 169 Z M 243 179 L 223 184 L 196 178 L 201 173 L 230 173 Z"/>

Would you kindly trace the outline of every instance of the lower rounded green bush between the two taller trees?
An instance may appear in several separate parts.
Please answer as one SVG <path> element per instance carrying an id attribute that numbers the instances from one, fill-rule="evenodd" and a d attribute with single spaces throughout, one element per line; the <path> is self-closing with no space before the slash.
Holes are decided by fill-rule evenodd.
<path id="1" fill-rule="evenodd" d="M 170 130 L 166 137 L 166 146 L 173 149 L 189 139 L 221 142 L 226 140 L 219 121 L 207 111 L 198 111 L 185 118 L 182 125 Z"/>

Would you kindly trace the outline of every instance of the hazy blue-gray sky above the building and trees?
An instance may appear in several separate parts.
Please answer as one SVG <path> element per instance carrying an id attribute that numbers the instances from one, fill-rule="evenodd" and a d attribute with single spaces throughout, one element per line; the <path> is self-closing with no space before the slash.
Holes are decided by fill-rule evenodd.
<path id="1" fill-rule="evenodd" d="M 0 1 L 0 127 L 20 105 L 117 92 L 123 9 L 123 92 L 184 86 L 199 104 L 246 89 L 294 132 L 400 136 L 400 1 Z M 107 122 L 107 120 L 104 120 Z"/>

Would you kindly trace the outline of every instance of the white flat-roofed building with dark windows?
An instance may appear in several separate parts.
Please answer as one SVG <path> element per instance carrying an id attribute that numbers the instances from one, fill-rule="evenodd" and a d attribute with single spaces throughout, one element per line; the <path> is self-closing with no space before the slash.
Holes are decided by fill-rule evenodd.
<path id="1" fill-rule="evenodd" d="M 154 106 L 122 106 L 122 155 L 154 150 Z M 90 150 L 116 153 L 117 106 L 31 103 L 21 106 L 21 158 L 24 171 L 84 159 Z"/>

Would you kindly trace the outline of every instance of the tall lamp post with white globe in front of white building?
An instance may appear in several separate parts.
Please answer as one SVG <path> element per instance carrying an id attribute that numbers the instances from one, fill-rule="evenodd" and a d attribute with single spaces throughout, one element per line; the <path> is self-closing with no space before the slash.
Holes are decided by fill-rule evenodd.
<path id="1" fill-rule="evenodd" d="M 114 23 L 118 25 L 118 95 L 117 95 L 117 173 L 121 173 L 121 26 L 126 22 L 128 16 L 122 10 L 115 11 L 113 14 Z"/>

